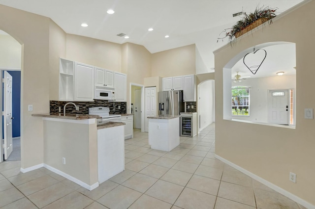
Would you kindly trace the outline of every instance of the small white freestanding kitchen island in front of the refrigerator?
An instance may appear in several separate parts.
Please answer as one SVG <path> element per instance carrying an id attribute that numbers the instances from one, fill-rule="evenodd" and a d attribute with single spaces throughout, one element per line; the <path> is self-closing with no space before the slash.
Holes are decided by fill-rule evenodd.
<path id="1" fill-rule="evenodd" d="M 180 143 L 180 116 L 149 116 L 149 145 L 151 149 L 171 151 Z"/>

